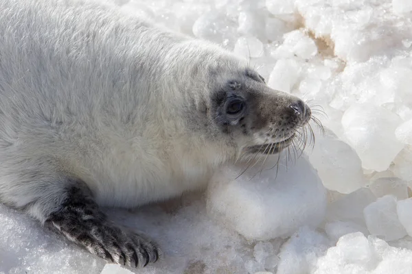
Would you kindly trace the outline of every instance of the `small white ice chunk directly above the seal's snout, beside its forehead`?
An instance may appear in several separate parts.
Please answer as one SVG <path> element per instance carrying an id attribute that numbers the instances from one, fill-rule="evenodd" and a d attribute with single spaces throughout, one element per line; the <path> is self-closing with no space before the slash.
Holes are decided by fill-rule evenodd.
<path id="1" fill-rule="evenodd" d="M 268 79 L 268 86 L 275 90 L 290 92 L 297 82 L 299 64 L 293 59 L 278 60 Z"/>

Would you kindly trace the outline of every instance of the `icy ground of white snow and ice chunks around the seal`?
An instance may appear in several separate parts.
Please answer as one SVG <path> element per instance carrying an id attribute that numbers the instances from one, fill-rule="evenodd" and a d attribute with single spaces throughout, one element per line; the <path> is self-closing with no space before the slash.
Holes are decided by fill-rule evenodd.
<path id="1" fill-rule="evenodd" d="M 108 1 L 220 43 L 327 114 L 276 180 L 228 167 L 206 193 L 108 211 L 166 252 L 135 273 L 412 273 L 411 0 Z M 3 206 L 0 220 L 0 273 L 130 273 Z"/>

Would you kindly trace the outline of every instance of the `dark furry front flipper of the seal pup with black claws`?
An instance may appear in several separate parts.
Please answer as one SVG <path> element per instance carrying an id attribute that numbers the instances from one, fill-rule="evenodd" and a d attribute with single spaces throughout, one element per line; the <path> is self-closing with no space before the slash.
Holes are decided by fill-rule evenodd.
<path id="1" fill-rule="evenodd" d="M 46 224 L 91 253 L 131 267 L 156 262 L 157 245 L 144 236 L 121 229 L 106 219 L 83 182 L 67 186 L 67 198 L 50 214 Z"/>

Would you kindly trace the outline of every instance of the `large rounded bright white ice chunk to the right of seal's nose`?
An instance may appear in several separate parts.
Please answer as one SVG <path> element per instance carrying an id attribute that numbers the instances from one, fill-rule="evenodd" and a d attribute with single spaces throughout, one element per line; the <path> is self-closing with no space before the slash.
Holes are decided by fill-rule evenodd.
<path id="1" fill-rule="evenodd" d="M 352 105 L 342 117 L 345 136 L 363 168 L 376 171 L 385 171 L 404 147 L 395 136 L 399 124 L 398 115 L 369 103 Z"/>

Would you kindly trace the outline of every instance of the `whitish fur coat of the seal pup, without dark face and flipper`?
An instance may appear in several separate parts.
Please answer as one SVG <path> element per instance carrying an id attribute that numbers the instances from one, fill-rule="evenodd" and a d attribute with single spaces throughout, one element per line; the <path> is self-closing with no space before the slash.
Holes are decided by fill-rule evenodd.
<path id="1" fill-rule="evenodd" d="M 211 68 L 225 77 L 243 66 L 115 8 L 1 0 L 0 201 L 44 221 L 66 175 L 103 206 L 200 188 L 239 151 L 188 126 L 186 106 L 205 107 Z"/>

